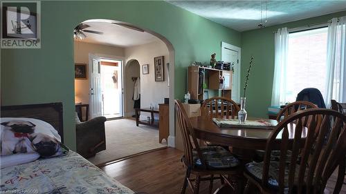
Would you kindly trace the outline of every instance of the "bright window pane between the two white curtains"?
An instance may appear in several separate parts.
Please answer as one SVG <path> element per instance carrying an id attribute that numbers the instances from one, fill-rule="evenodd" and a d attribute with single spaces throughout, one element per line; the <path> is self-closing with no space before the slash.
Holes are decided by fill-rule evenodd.
<path id="1" fill-rule="evenodd" d="M 328 28 L 318 28 L 289 33 L 286 101 L 295 101 L 304 88 L 318 88 L 325 95 L 327 30 Z"/>

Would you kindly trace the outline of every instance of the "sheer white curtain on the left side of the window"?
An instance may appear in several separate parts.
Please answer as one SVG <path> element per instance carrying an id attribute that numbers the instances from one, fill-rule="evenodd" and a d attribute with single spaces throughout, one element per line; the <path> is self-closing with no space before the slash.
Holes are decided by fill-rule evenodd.
<path id="1" fill-rule="evenodd" d="M 271 106 L 280 106 L 286 103 L 285 92 L 288 52 L 289 32 L 287 28 L 280 28 L 275 33 L 275 70 Z"/>

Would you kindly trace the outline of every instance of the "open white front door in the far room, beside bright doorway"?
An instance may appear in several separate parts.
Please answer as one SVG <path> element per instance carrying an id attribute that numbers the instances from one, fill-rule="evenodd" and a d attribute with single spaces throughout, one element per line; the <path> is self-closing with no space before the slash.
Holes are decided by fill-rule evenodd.
<path id="1" fill-rule="evenodd" d="M 101 93 L 101 67 L 100 58 L 89 55 L 89 109 L 91 119 L 102 115 L 102 93 Z"/>

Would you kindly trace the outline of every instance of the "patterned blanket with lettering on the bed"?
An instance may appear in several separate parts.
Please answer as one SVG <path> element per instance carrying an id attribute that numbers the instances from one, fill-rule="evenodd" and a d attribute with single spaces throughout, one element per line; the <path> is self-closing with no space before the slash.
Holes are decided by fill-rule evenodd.
<path id="1" fill-rule="evenodd" d="M 7 192 L 6 192 L 7 191 Z M 84 157 L 66 155 L 1 169 L 0 193 L 132 194 Z"/>

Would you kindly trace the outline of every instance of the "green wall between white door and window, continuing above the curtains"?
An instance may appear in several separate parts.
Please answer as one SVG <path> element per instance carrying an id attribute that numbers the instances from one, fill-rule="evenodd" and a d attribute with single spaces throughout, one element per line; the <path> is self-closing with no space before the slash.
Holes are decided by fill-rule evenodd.
<path id="1" fill-rule="evenodd" d="M 246 89 L 246 111 L 250 117 L 267 117 L 268 106 L 271 106 L 271 93 L 274 77 L 274 31 L 278 28 L 297 28 L 318 23 L 327 23 L 334 17 L 345 16 L 346 11 L 327 14 L 321 17 L 302 19 L 283 23 L 277 26 L 242 32 L 242 85 L 246 76 L 251 55 L 254 66 Z M 270 21 L 270 19 L 269 19 Z M 243 93 L 243 91 L 241 91 Z"/>

